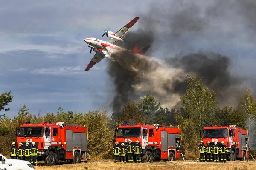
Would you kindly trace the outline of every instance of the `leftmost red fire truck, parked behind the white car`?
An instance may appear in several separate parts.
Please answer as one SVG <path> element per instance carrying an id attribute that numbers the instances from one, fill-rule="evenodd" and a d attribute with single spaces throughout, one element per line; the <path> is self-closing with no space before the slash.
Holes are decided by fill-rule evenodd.
<path id="1" fill-rule="evenodd" d="M 69 160 L 79 163 L 87 160 L 87 127 L 64 122 L 24 124 L 17 129 L 17 144 L 32 142 L 38 146 L 38 161 L 55 165 L 57 161 Z"/>

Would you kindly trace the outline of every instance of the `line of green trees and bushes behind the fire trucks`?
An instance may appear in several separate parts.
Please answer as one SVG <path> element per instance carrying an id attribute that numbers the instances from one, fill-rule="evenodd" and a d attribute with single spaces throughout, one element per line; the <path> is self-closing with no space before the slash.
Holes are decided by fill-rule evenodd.
<path id="1" fill-rule="evenodd" d="M 112 113 L 95 110 L 87 113 L 64 112 L 61 107 L 58 112 L 30 113 L 23 105 L 13 118 L 0 114 L 0 153 L 8 155 L 12 142 L 16 141 L 15 131 L 21 124 L 31 121 L 67 122 L 88 126 L 88 153 L 98 159 L 112 158 L 111 149 L 115 141 L 115 129 L 125 123 L 157 123 L 162 125 L 182 125 L 182 152 L 197 157 L 198 142 L 201 140 L 204 127 L 207 125 L 237 125 L 245 128 L 249 126 L 249 146 L 255 149 L 256 135 L 256 99 L 249 89 L 237 99 L 237 107 L 225 106 L 218 108 L 217 94 L 203 85 L 202 78 L 188 76 L 186 94 L 180 97 L 179 109 L 163 108 L 160 102 L 146 94 L 142 100 L 130 101 L 122 107 L 122 111 Z M 12 102 L 11 91 L 0 96 L 0 111 Z M 251 151 L 251 153 L 255 153 Z"/>

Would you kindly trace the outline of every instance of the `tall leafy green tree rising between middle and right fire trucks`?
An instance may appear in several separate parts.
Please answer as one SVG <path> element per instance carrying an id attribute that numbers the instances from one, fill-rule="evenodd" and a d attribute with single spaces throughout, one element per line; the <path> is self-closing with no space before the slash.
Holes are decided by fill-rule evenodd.
<path id="1" fill-rule="evenodd" d="M 202 78 L 187 77 L 186 81 L 189 85 L 186 94 L 180 98 L 181 106 L 186 116 L 195 123 L 198 133 L 201 134 L 201 130 L 209 122 L 211 113 L 217 108 L 216 93 L 204 87 Z M 182 114 L 180 116 L 183 117 Z"/>

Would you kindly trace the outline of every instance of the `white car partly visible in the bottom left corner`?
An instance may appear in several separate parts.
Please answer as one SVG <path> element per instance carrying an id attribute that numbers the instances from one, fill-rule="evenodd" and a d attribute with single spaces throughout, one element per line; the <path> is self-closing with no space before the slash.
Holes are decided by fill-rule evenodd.
<path id="1" fill-rule="evenodd" d="M 0 154 L 0 170 L 35 170 L 35 168 L 28 161 L 7 159 Z"/>

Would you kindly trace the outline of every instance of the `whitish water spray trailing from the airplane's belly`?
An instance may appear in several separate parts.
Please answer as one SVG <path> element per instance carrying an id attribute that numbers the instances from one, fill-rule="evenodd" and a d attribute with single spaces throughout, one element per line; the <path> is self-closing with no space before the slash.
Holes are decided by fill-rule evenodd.
<path id="1" fill-rule="evenodd" d="M 175 81 L 184 81 L 186 78 L 187 73 L 182 69 L 172 68 L 163 60 L 130 53 L 122 49 L 116 50 L 107 47 L 107 51 L 104 52 L 105 57 L 111 58 L 123 68 L 135 72 L 136 78 L 142 80 L 140 83 L 132 85 L 138 94 L 140 92 L 154 94 L 162 107 L 173 108 L 180 101 L 180 94 L 171 91 Z"/>

